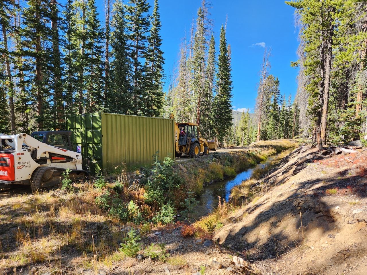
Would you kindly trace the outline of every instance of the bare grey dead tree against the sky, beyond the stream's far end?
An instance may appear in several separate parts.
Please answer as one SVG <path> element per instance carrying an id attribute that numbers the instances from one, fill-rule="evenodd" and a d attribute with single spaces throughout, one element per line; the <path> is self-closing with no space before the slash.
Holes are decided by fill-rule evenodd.
<path id="1" fill-rule="evenodd" d="M 256 114 L 257 114 L 257 119 L 258 119 L 256 141 L 260 140 L 260 135 L 261 135 L 261 120 L 264 115 L 264 106 L 265 106 L 265 100 L 266 100 L 265 81 L 266 81 L 266 78 L 268 77 L 269 70 L 270 70 L 269 56 L 270 56 L 270 50 L 265 48 L 263 62 L 262 62 L 262 69 L 260 72 L 260 83 L 259 83 L 258 95 L 256 98 Z"/>

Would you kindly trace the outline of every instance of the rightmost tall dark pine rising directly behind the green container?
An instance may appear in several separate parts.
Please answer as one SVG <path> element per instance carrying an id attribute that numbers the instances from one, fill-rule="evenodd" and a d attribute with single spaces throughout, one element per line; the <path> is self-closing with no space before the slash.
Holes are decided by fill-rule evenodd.
<path id="1" fill-rule="evenodd" d="M 148 36 L 148 51 L 146 52 L 146 89 L 148 96 L 145 99 L 144 115 L 157 117 L 163 109 L 163 51 L 158 0 L 154 1 L 152 27 Z"/>

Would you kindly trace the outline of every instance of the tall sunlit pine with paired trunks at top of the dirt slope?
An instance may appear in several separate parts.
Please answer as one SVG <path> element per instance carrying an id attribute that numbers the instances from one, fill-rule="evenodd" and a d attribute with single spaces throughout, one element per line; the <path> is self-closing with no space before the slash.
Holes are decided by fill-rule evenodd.
<path id="1" fill-rule="evenodd" d="M 286 1 L 301 14 L 304 24 L 305 74 L 310 76 L 306 89 L 310 94 L 309 113 L 313 117 L 313 137 L 319 150 L 326 142 L 326 123 L 334 38 L 335 1 Z"/>

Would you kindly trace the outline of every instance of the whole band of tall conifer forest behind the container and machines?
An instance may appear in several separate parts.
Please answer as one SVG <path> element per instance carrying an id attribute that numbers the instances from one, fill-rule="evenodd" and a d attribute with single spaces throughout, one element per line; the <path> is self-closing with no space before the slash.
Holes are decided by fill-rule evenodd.
<path id="1" fill-rule="evenodd" d="M 152 6 L 147 0 L 3 0 L 0 132 L 63 129 L 65 114 L 103 111 L 173 113 L 226 146 L 292 137 L 310 138 L 319 149 L 327 142 L 363 141 L 366 1 L 285 4 L 295 9 L 299 30 L 299 58 L 290 62 L 299 70 L 297 93 L 280 90 L 266 47 L 254 68 L 255 107 L 238 114 L 232 107 L 230 26 L 214 22 L 207 0 L 198 3 L 190 30 L 182 32 L 173 72 L 163 69 L 158 0 Z"/>

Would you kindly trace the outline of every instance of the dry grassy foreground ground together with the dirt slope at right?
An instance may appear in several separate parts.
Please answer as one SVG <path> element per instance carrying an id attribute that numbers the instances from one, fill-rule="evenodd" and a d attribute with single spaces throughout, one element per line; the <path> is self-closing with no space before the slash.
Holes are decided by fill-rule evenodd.
<path id="1" fill-rule="evenodd" d="M 302 145 L 252 182 L 261 194 L 229 207 L 213 235 L 184 238 L 182 223 L 139 227 L 142 247 L 153 243 L 160 255 L 153 261 L 119 251 L 134 225 L 95 206 L 90 184 L 74 192 L 3 190 L 0 274 L 366 274 L 366 167 L 366 148 L 324 157 Z"/>

